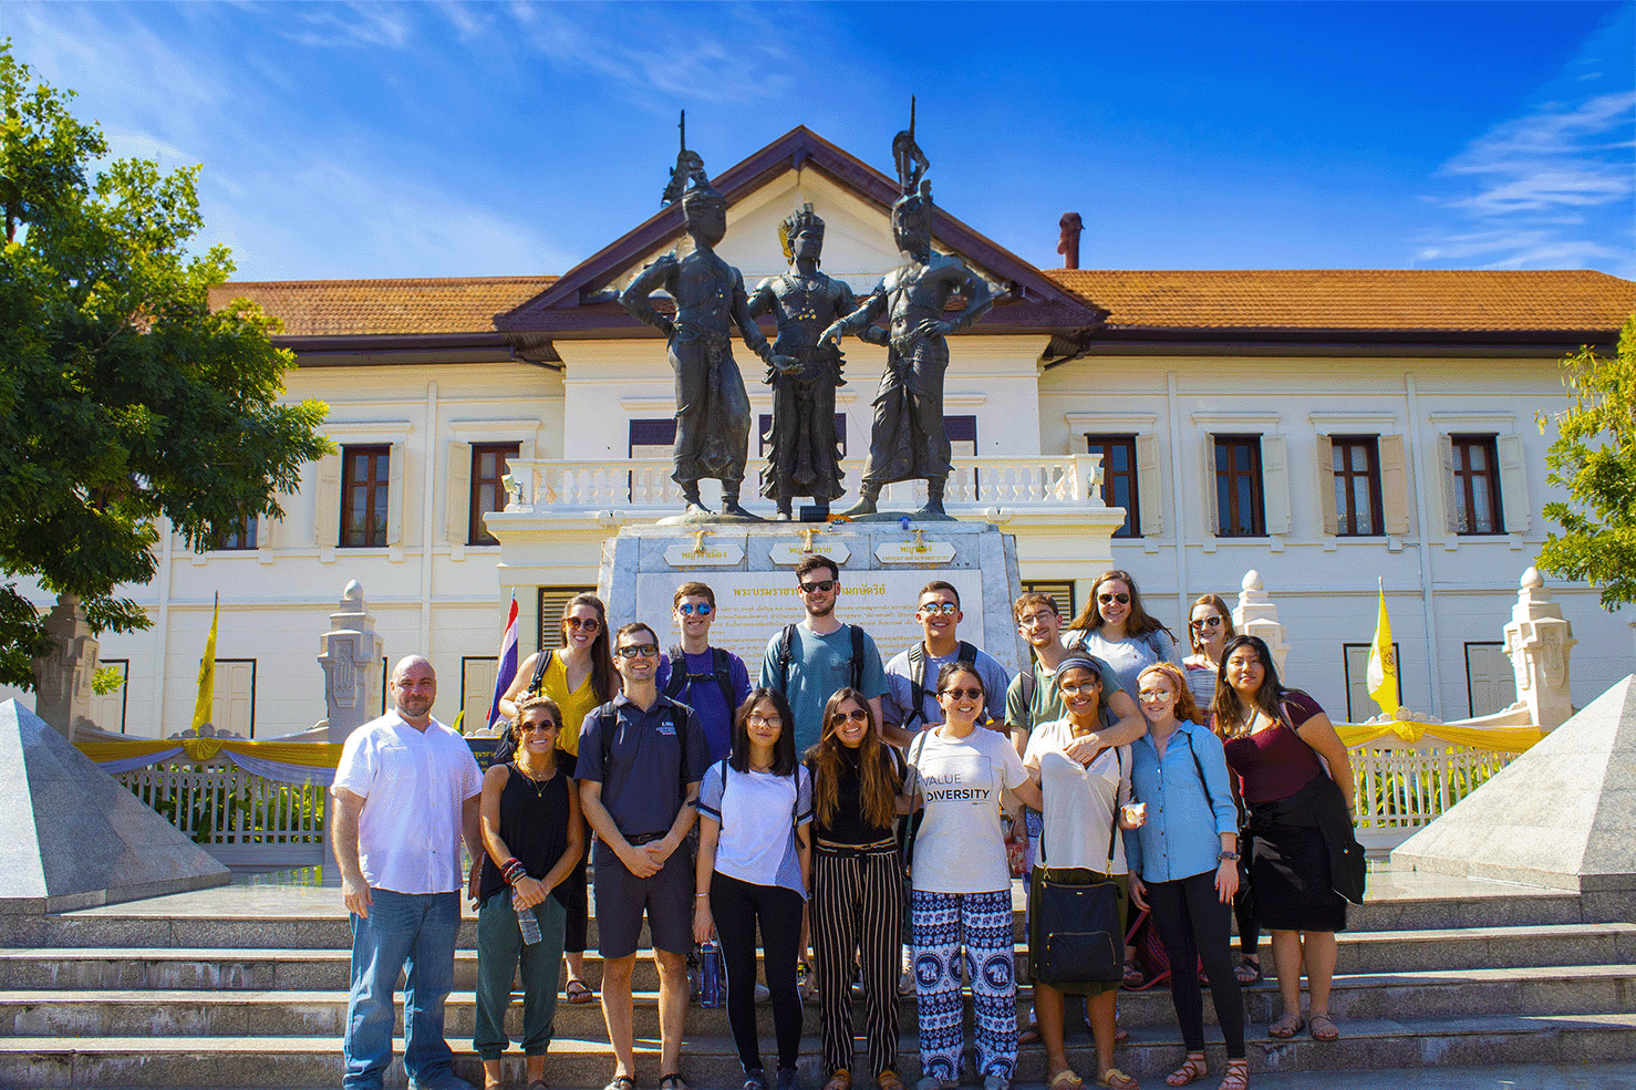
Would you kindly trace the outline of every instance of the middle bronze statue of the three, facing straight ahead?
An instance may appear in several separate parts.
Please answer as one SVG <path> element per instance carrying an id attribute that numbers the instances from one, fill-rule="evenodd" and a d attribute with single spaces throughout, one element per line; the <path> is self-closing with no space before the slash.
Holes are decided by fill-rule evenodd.
<path id="1" fill-rule="evenodd" d="M 779 519 L 790 519 L 795 496 L 811 496 L 820 514 L 841 488 L 841 458 L 834 435 L 834 388 L 841 376 L 841 347 L 821 342 L 829 322 L 857 306 L 852 288 L 818 272 L 823 252 L 823 219 L 811 205 L 802 205 L 779 227 L 790 270 L 762 280 L 749 296 L 749 313 L 772 313 L 779 322 L 774 350 L 800 362 L 780 373 L 767 368 L 772 385 L 772 432 L 767 440 L 767 475 L 761 494 L 779 504 Z M 885 342 L 885 331 L 877 344 Z"/>

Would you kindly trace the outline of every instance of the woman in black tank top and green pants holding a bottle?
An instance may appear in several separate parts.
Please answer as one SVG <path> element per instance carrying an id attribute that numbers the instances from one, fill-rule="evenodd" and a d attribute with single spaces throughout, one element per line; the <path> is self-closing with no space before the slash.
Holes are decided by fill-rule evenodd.
<path id="1" fill-rule="evenodd" d="M 545 1051 L 556 1013 L 556 972 L 563 957 L 564 912 L 551 890 L 579 863 L 584 823 L 573 781 L 556 768 L 561 712 L 555 700 L 527 697 L 517 707 L 517 758 L 483 777 L 483 877 L 478 885 L 478 1023 L 473 1047 L 483 1085 L 501 1085 L 501 1052 L 512 975 L 522 964 L 524 1036 L 528 1087 L 545 1085 Z M 519 913 L 527 917 L 519 920 Z M 525 931 L 538 928 L 538 941 Z"/>

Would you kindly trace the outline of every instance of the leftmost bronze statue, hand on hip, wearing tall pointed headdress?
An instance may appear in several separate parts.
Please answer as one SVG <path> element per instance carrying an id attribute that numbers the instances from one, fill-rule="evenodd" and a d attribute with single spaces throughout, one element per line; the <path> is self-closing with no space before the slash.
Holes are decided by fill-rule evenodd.
<path id="1" fill-rule="evenodd" d="M 699 173 L 703 173 L 702 164 Z M 699 499 L 699 481 L 713 478 L 721 481 L 721 514 L 754 519 L 738 502 L 749 455 L 749 398 L 733 362 L 733 324 L 767 367 L 789 370 L 797 363 L 774 355 L 749 314 L 744 278 L 712 249 L 726 237 L 726 201 L 708 180 L 695 180 L 682 196 L 682 221 L 692 250 L 681 257 L 672 250 L 645 267 L 618 301 L 669 340 L 671 370 L 676 372 L 676 471 L 671 478 L 682 486 L 687 514 L 712 514 Z M 674 321 L 653 309 L 648 296 L 658 288 L 676 300 Z"/>

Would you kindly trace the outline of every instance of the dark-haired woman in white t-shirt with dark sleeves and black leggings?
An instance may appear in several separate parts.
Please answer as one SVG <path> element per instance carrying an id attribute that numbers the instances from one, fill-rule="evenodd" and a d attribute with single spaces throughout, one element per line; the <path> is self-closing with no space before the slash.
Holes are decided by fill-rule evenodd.
<path id="1" fill-rule="evenodd" d="M 779 1039 L 779 1090 L 793 1090 L 802 1046 L 795 962 L 802 944 L 813 820 L 811 774 L 795 759 L 784 694 L 756 689 L 733 717 L 733 751 L 699 784 L 694 941 L 715 933 L 726 969 L 726 1020 L 744 1090 L 767 1090 L 756 1038 L 756 926 Z"/>

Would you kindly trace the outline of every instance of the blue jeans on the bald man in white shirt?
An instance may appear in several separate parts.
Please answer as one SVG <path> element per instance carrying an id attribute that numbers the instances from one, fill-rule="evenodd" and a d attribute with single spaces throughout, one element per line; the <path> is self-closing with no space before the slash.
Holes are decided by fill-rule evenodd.
<path id="1" fill-rule="evenodd" d="M 345 1090 L 378 1090 L 393 1062 L 393 992 L 404 982 L 404 1067 L 416 1082 L 453 1075 L 443 1039 L 443 1000 L 455 985 L 460 894 L 371 889 L 368 918 L 352 917 L 352 992 L 347 998 Z"/>

